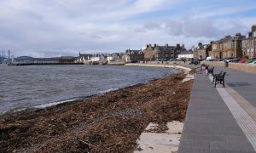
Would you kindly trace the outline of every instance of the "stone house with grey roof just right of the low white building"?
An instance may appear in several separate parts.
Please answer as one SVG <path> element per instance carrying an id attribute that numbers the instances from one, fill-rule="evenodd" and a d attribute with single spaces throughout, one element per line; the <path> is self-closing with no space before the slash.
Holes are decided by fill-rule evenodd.
<path id="1" fill-rule="evenodd" d="M 194 57 L 195 59 L 207 59 L 209 56 L 209 51 L 212 50 L 212 43 L 210 44 L 202 44 L 198 43 L 198 46 L 194 49 Z"/>

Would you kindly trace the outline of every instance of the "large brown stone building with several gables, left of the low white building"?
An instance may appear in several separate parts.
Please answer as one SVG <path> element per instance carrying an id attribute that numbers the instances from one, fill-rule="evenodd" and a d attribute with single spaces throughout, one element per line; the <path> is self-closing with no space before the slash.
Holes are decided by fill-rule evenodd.
<path id="1" fill-rule="evenodd" d="M 148 44 L 144 50 L 144 58 L 145 60 L 157 60 L 157 61 L 166 61 L 169 59 L 176 59 L 177 54 L 181 53 L 182 51 L 186 50 L 184 45 L 177 44 L 177 46 L 169 46 L 166 43 L 165 46 L 160 46 L 154 44 Z"/>

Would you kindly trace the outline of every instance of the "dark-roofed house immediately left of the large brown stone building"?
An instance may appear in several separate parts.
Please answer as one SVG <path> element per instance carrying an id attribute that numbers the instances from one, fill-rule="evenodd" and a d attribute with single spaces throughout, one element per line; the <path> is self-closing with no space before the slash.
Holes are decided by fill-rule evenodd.
<path id="1" fill-rule="evenodd" d="M 131 50 L 130 48 L 125 51 L 125 62 L 138 62 L 144 61 L 143 49 Z"/>

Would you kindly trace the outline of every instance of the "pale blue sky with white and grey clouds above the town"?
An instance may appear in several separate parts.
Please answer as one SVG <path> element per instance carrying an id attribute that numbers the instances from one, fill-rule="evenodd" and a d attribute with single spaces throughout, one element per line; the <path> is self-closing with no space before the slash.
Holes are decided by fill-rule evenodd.
<path id="1" fill-rule="evenodd" d="M 15 57 L 187 49 L 256 24 L 255 0 L 0 0 L 0 50 Z"/>

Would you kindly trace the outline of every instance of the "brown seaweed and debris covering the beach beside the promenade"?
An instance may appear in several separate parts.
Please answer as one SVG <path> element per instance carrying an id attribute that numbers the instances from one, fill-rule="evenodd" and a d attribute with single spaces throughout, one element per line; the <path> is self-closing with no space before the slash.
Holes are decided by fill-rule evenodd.
<path id="1" fill-rule="evenodd" d="M 19 116 L 0 116 L 0 152 L 132 152 L 149 122 L 183 122 L 193 81 L 185 74 Z"/>

